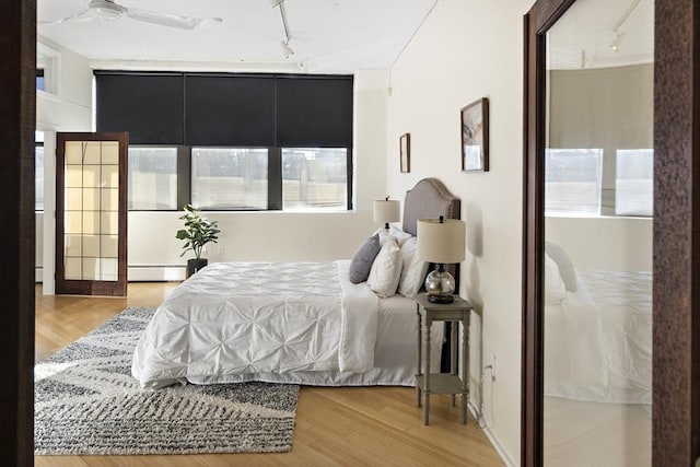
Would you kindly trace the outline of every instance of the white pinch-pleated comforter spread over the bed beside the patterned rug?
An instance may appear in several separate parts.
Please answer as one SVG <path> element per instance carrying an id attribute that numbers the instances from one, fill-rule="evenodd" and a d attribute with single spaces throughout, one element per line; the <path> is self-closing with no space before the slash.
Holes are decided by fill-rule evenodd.
<path id="1" fill-rule="evenodd" d="M 378 297 L 335 262 L 220 262 L 183 282 L 137 345 L 142 387 L 229 383 L 247 373 L 365 372 Z"/>

